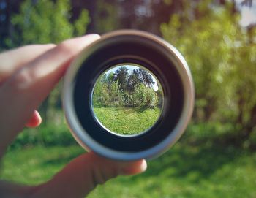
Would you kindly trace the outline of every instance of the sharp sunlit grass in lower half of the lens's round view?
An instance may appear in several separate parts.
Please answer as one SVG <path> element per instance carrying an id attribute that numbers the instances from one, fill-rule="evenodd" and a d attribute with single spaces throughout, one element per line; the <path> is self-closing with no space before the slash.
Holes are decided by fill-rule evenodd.
<path id="1" fill-rule="evenodd" d="M 99 121 L 118 134 L 139 134 L 154 125 L 160 115 L 159 108 L 94 107 Z"/>

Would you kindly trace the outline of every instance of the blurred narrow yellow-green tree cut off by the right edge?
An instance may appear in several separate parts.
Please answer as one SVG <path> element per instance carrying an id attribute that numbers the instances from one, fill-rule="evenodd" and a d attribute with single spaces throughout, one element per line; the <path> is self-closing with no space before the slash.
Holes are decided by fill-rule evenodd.
<path id="1" fill-rule="evenodd" d="M 232 58 L 230 58 L 230 104 L 233 105 L 235 126 L 238 140 L 246 140 L 255 132 L 256 126 L 256 29 L 252 32 L 236 31 L 236 42 L 233 42 Z M 255 36 L 254 36 L 255 37 Z"/>

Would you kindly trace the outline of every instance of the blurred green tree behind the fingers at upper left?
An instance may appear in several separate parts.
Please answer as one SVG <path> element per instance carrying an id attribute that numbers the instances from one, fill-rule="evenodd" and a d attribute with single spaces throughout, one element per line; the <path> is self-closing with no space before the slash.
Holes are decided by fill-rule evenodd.
<path id="1" fill-rule="evenodd" d="M 89 13 L 86 9 L 80 12 L 80 17 L 74 22 L 71 18 L 69 0 L 26 0 L 20 6 L 20 13 L 12 16 L 11 22 L 15 28 L 12 39 L 7 39 L 9 47 L 28 44 L 59 43 L 64 39 L 85 34 Z M 41 111 L 46 123 L 48 109 L 61 104 L 61 89 L 56 88 L 43 102 Z"/>

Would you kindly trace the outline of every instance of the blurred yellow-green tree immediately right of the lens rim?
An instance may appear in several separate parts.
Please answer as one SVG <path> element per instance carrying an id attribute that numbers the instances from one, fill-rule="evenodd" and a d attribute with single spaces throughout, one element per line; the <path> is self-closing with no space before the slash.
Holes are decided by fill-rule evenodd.
<path id="1" fill-rule="evenodd" d="M 205 7 L 205 2 L 202 4 Z M 181 51 L 192 69 L 195 115 L 199 120 L 209 121 L 217 110 L 219 96 L 225 96 L 227 87 L 222 83 L 229 69 L 230 47 L 223 35 L 233 37 L 233 28 L 233 21 L 225 10 L 208 12 L 207 16 L 193 21 L 173 15 L 170 23 L 162 24 L 165 39 Z"/>

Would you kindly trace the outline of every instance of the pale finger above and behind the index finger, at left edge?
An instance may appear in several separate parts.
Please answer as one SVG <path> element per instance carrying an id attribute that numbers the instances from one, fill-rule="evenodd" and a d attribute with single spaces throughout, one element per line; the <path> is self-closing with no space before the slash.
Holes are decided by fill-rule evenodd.
<path id="1" fill-rule="evenodd" d="M 0 84 L 25 64 L 56 45 L 26 45 L 0 54 Z"/>

